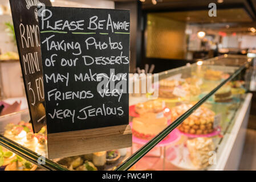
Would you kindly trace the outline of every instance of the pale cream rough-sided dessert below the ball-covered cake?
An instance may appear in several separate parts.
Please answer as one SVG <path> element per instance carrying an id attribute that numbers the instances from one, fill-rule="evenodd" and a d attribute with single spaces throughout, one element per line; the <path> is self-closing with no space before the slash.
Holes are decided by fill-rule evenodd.
<path id="1" fill-rule="evenodd" d="M 197 169 L 209 166 L 210 152 L 214 151 L 214 143 L 212 138 L 198 137 L 189 139 L 186 142 L 189 150 L 189 158 Z"/>

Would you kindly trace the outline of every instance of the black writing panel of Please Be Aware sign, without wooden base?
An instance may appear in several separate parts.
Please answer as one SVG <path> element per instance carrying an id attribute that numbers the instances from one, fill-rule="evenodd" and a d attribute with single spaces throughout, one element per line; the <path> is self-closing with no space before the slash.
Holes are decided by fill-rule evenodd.
<path id="1" fill-rule="evenodd" d="M 47 132 L 128 125 L 129 11 L 46 7 L 42 13 Z"/>

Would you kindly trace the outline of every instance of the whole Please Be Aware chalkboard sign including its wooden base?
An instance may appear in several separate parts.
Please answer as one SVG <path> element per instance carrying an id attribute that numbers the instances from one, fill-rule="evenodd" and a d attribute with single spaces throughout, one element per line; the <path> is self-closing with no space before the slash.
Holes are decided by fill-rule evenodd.
<path id="1" fill-rule="evenodd" d="M 129 93 L 125 92 L 127 90 L 124 90 L 127 89 L 129 85 L 129 11 L 47 6 L 44 7 L 44 11 L 47 11 L 48 14 L 45 15 L 47 16 L 46 18 L 39 18 L 39 30 L 43 61 L 44 96 L 48 96 L 45 100 L 48 158 L 56 159 L 131 147 L 132 131 L 129 126 L 128 115 Z M 69 16 L 68 14 L 75 14 L 75 16 Z M 90 22 L 92 18 L 95 17 L 99 19 L 100 22 L 105 22 L 105 29 L 96 28 L 95 30 L 95 28 L 91 28 L 91 24 L 93 23 Z M 50 24 L 52 22 L 56 24 L 57 21 L 61 22 L 63 19 L 65 19 L 65 22 L 74 22 L 75 19 L 76 22 L 84 23 L 78 23 L 79 26 L 74 30 L 63 26 L 63 31 L 56 31 L 59 30 L 59 28 L 56 27 L 44 26 L 44 20 L 47 20 Z M 89 19 L 90 21 L 88 21 Z M 120 20 L 125 24 L 125 26 L 121 27 L 122 31 L 119 30 L 118 27 L 108 28 L 107 22 L 119 22 Z M 92 32 L 91 29 L 94 29 L 94 31 Z M 107 47 L 102 49 L 97 46 L 89 48 L 88 46 L 90 46 L 91 43 L 87 44 L 87 42 L 84 41 L 92 38 L 95 40 L 95 45 L 97 41 L 102 43 L 102 45 L 107 45 Z M 70 49 L 67 50 L 62 49 L 62 47 L 48 47 L 48 41 L 52 41 L 52 43 L 63 43 L 64 39 L 66 39 L 66 42 L 72 40 L 70 45 L 73 43 L 79 45 L 81 51 L 72 52 L 72 49 L 75 49 L 76 46 L 74 48 L 70 46 Z M 53 45 L 52 43 L 51 45 Z M 117 46 L 113 46 L 113 44 Z M 56 56 L 54 57 L 54 62 L 56 62 L 54 64 L 47 64 L 47 60 L 50 60 L 49 57 L 53 55 Z M 104 58 L 103 62 L 100 64 L 96 62 L 86 64 L 84 59 L 84 56 L 95 59 L 92 57 L 102 55 L 107 57 L 106 60 L 109 60 L 109 63 Z M 113 57 L 116 58 L 113 59 Z M 74 60 L 75 62 L 68 65 L 60 64 L 62 60 L 66 60 L 64 58 Z M 114 62 L 111 61 L 112 59 Z M 90 73 L 92 77 L 91 80 L 74 81 L 76 80 L 76 74 L 82 73 Z M 95 73 L 94 75 L 103 73 L 109 75 L 109 80 L 106 81 L 105 77 L 104 79 L 100 77 L 100 80 L 98 80 L 98 78 L 95 80 L 93 73 Z M 59 77 L 67 74 L 67 82 L 63 83 L 63 80 L 58 76 L 56 76 L 57 79 L 55 80 L 55 74 L 58 74 Z M 115 74 L 116 77 L 112 78 L 111 74 Z M 52 77 L 54 77 L 53 80 Z M 50 81 L 47 79 L 50 79 Z M 124 83 L 122 83 L 121 80 L 124 80 Z M 87 85 L 84 84 L 86 82 Z M 117 85 L 117 88 L 109 88 L 109 82 L 114 84 L 113 86 Z M 120 82 L 121 84 L 119 85 Z M 100 87 L 99 85 L 101 84 L 104 85 Z M 125 87 L 122 84 L 125 84 Z M 104 87 L 103 94 L 101 93 L 103 92 L 101 90 L 103 89 L 102 87 Z M 117 98 L 115 95 L 116 89 L 120 89 L 120 98 Z M 66 98 L 66 95 L 63 95 L 63 98 L 58 96 L 58 98 L 54 97 L 50 99 L 49 93 L 55 92 L 54 90 L 59 90 L 58 92 L 63 92 L 63 94 L 83 90 L 87 91 L 89 94 L 88 98 L 86 92 L 86 97 L 84 98 L 74 97 L 71 99 L 70 96 Z M 114 93 L 113 96 L 112 94 L 107 94 L 108 90 Z M 92 97 L 90 97 L 90 93 Z M 51 96 L 54 95 L 51 94 Z M 92 109 L 88 109 L 88 115 L 85 111 L 87 107 L 92 107 Z M 96 114 L 91 114 L 96 108 Z M 58 113 L 62 116 L 59 116 Z"/>

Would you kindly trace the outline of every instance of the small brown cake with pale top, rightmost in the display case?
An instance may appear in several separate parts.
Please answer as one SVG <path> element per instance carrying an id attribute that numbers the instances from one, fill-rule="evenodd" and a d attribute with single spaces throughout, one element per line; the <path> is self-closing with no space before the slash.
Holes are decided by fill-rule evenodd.
<path id="1" fill-rule="evenodd" d="M 214 94 L 215 102 L 231 102 L 233 101 L 231 86 L 224 85 Z"/>

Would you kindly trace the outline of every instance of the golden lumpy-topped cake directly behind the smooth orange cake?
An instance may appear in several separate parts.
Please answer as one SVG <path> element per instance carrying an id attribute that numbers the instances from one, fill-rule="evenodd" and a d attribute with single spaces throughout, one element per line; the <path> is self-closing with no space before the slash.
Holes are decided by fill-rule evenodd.
<path id="1" fill-rule="evenodd" d="M 135 105 L 135 111 L 137 114 L 159 113 L 163 111 L 164 108 L 165 102 L 159 100 L 151 100 Z"/>

